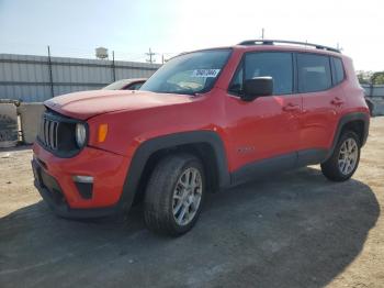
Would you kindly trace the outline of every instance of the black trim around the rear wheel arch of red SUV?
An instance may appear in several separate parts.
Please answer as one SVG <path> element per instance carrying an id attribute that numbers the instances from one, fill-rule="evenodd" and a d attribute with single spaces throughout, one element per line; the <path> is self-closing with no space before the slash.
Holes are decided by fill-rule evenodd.
<path id="1" fill-rule="evenodd" d="M 370 115 L 368 113 L 364 112 L 352 112 L 352 113 L 348 113 L 343 117 L 340 118 L 339 123 L 337 125 L 335 135 L 334 135 L 334 141 L 332 141 L 332 146 L 329 149 L 327 156 L 325 157 L 325 160 L 327 160 L 334 153 L 334 149 L 337 145 L 337 142 L 340 137 L 341 131 L 343 129 L 343 126 L 352 121 L 363 121 L 364 123 L 364 131 L 363 131 L 363 135 L 362 135 L 362 142 L 361 142 L 361 146 L 363 146 L 366 142 L 368 139 L 368 134 L 369 134 L 369 130 L 370 130 Z"/>

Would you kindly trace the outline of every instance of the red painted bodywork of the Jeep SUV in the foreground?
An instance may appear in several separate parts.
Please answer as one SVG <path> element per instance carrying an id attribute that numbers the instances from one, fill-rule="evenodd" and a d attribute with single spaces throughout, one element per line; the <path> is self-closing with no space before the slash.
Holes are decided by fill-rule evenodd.
<path id="1" fill-rule="evenodd" d="M 235 46 L 214 88 L 196 97 L 144 91 L 86 91 L 45 102 L 50 109 L 90 126 L 89 146 L 74 158 L 58 158 L 34 145 L 34 154 L 48 166 L 71 208 L 108 207 L 115 203 L 135 151 L 140 143 L 177 132 L 212 130 L 223 140 L 228 170 L 255 160 L 306 148 L 330 148 L 340 117 L 353 111 L 369 113 L 351 59 L 342 58 L 347 80 L 327 91 L 272 96 L 245 102 L 227 93 L 235 70 L 246 52 L 308 49 L 284 46 Z M 99 124 L 109 133 L 98 143 Z M 241 151 L 241 153 L 239 153 Z M 72 175 L 95 177 L 94 197 L 81 199 Z"/>

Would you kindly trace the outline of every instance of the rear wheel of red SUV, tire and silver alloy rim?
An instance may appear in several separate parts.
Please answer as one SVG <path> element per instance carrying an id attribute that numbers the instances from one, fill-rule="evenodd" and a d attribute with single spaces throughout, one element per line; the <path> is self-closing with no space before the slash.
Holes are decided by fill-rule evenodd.
<path id="1" fill-rule="evenodd" d="M 349 147 L 354 148 L 349 152 Z M 321 164 L 324 176 L 332 181 L 346 181 L 351 178 L 359 166 L 360 148 L 360 140 L 354 132 L 342 133 L 332 155 Z"/>

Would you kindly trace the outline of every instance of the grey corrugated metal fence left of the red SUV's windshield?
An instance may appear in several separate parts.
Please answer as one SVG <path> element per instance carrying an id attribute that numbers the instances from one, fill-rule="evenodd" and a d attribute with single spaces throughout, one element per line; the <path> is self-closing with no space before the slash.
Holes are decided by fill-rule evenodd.
<path id="1" fill-rule="evenodd" d="M 134 62 L 115 66 L 116 80 L 149 77 L 160 67 Z M 54 96 L 100 89 L 113 81 L 111 60 L 52 57 L 52 74 Z M 34 102 L 50 97 L 48 57 L 0 54 L 0 99 Z"/>

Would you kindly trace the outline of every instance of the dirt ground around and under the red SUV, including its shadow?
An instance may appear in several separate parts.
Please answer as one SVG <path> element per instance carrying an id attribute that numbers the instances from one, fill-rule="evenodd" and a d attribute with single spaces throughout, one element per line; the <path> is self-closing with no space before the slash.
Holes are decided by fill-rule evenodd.
<path id="1" fill-rule="evenodd" d="M 30 147 L 0 152 L 0 287 L 384 287 L 384 118 L 353 179 L 318 166 L 208 197 L 179 239 L 126 219 L 56 218 Z"/>

